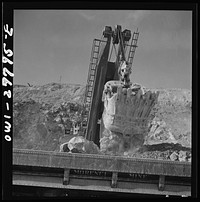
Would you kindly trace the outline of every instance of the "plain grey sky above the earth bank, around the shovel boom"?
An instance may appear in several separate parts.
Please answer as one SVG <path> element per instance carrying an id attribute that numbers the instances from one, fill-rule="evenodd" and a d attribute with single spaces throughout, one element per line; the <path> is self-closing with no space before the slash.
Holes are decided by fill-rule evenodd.
<path id="1" fill-rule="evenodd" d="M 192 85 L 192 11 L 14 10 L 14 84 L 86 85 L 92 42 L 105 26 L 139 30 L 131 82 Z"/>

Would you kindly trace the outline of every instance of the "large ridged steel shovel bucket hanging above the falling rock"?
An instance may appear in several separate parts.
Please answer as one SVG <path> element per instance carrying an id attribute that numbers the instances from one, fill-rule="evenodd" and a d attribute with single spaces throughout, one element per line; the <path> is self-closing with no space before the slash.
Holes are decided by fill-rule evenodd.
<path id="1" fill-rule="evenodd" d="M 105 91 L 107 89 L 111 91 L 111 97 L 105 96 L 104 99 L 103 121 L 106 122 L 105 126 L 110 124 L 109 129 L 113 128 L 116 132 L 121 133 L 128 127 L 131 128 L 129 131 L 132 135 L 135 131 L 140 131 L 140 134 L 145 133 L 150 112 L 158 98 L 158 92 L 144 92 L 139 85 L 124 88 L 120 82 L 109 81 L 105 86 Z"/>

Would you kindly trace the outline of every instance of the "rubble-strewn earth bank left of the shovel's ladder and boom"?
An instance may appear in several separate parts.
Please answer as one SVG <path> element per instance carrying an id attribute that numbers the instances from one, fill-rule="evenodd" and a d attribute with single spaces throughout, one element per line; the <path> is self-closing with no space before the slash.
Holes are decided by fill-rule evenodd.
<path id="1" fill-rule="evenodd" d="M 59 151 L 63 138 L 71 138 L 66 130 L 80 122 L 84 92 L 73 84 L 14 85 L 13 147 Z"/>

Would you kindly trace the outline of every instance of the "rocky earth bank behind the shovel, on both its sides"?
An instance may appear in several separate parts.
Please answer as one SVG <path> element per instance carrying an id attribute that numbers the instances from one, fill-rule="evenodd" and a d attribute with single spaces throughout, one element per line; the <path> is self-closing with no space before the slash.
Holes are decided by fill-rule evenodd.
<path id="1" fill-rule="evenodd" d="M 162 158 L 163 155 L 165 159 L 167 155 L 168 159 L 175 151 L 177 155 L 180 151 L 187 151 L 188 158 L 191 149 L 191 91 L 153 90 L 159 91 L 159 97 L 145 140 L 146 149 L 132 156 Z M 62 143 L 74 137 L 67 134 L 68 128 L 74 122 L 81 122 L 84 93 L 85 86 L 78 84 L 14 85 L 13 147 L 59 151 Z M 159 146 L 162 144 L 165 144 L 164 151 Z"/>

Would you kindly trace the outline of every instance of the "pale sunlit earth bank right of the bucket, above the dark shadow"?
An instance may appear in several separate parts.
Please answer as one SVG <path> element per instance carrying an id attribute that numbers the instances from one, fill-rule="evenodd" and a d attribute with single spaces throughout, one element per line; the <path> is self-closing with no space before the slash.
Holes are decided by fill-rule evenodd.
<path id="1" fill-rule="evenodd" d="M 158 90 L 155 118 L 151 122 L 146 144 L 178 143 L 191 148 L 191 91 Z"/>

